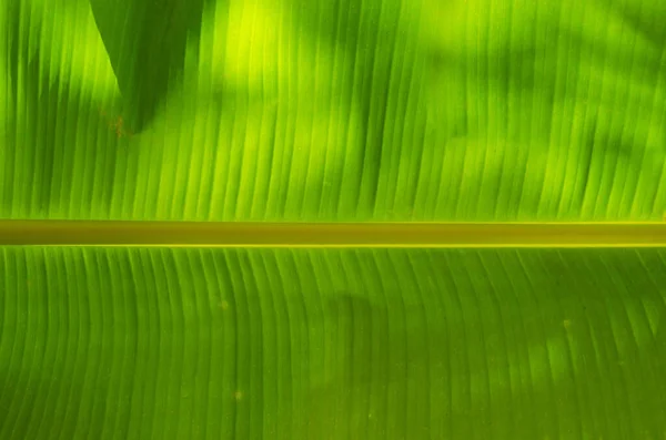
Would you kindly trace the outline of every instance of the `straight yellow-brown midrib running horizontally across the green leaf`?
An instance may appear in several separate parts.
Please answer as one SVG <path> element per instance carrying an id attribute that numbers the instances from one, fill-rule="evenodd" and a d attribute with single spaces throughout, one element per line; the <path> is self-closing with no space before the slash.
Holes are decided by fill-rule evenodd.
<path id="1" fill-rule="evenodd" d="M 0 221 L 0 246 L 666 247 L 665 223 Z"/>

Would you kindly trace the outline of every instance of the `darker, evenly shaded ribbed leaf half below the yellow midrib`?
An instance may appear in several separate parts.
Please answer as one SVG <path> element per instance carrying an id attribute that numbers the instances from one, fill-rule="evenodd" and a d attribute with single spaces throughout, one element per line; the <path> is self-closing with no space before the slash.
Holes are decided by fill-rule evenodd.
<path id="1" fill-rule="evenodd" d="M 4 248 L 0 438 L 662 438 L 666 254 Z"/>

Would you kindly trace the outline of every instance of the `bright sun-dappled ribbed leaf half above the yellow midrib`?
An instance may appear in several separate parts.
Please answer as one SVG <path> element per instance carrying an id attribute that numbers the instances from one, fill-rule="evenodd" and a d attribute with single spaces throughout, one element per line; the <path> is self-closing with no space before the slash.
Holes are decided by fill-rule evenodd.
<path id="1" fill-rule="evenodd" d="M 0 91 L 2 125 L 18 136 L 0 157 L 4 218 L 666 212 L 656 0 L 211 1 L 182 14 L 171 0 L 155 11 L 143 1 L 7 4 L 20 4 L 21 25 L 0 58 L 17 70 L 39 47 L 51 92 Z M 58 129 L 33 139 L 32 126 L 52 124 L 47 108 Z M 38 206 L 30 190 L 44 186 Z"/>

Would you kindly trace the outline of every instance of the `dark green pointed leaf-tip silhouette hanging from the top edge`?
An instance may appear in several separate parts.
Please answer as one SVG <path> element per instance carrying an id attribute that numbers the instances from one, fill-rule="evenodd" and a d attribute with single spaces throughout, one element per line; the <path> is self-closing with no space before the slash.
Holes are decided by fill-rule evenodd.
<path id="1" fill-rule="evenodd" d="M 206 0 L 90 0 L 123 94 L 128 124 L 141 131 L 182 80 Z"/>

